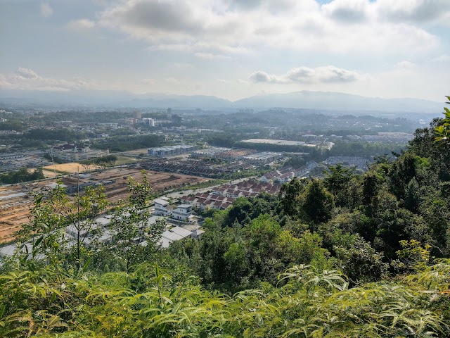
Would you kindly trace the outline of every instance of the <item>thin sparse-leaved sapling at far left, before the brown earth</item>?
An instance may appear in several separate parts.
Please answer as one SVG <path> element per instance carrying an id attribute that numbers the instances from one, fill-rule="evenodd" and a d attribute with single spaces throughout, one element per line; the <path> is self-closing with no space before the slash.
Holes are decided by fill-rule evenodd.
<path id="1" fill-rule="evenodd" d="M 30 223 L 18 232 L 18 237 L 25 247 L 31 241 L 33 256 L 44 255 L 54 266 L 60 265 L 61 254 L 70 246 L 69 258 L 77 274 L 82 265 L 89 263 L 94 247 L 87 244 L 94 244 L 101 233 L 96 218 L 107 206 L 102 185 L 87 187 L 70 201 L 65 188 L 58 184 L 48 194 L 34 195 Z"/>

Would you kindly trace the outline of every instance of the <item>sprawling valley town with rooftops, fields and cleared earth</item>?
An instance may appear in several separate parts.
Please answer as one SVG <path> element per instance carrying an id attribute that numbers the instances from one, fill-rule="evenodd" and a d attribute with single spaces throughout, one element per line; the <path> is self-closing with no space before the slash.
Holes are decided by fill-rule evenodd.
<path id="1" fill-rule="evenodd" d="M 73 199 L 86 187 L 102 185 L 108 201 L 117 204 L 126 197 L 129 177 L 139 178 L 145 170 L 155 194 L 148 226 L 158 218 L 167 221 L 160 239 L 160 245 L 167 248 L 186 236 L 200 236 L 205 231 L 205 211 L 230 208 L 238 197 L 277 194 L 281 184 L 294 177 L 322 177 L 330 165 L 341 164 L 362 173 L 376 156 L 401 149 L 412 137 L 398 131 L 395 125 L 399 120 L 387 118 L 351 117 L 350 130 L 314 134 L 313 128 L 321 130 L 323 121 L 313 126 L 308 123 L 304 132 L 297 133 L 282 124 L 269 123 L 268 127 L 252 122 L 238 125 L 253 125 L 257 132 L 224 132 L 221 120 L 233 120 L 232 113 L 219 115 L 217 123 L 205 125 L 202 111 L 172 108 L 146 113 L 138 109 L 124 113 L 86 111 L 82 115 L 34 108 L 13 114 L 7 108 L 0 113 L 4 116 L 0 135 L 4 139 L 0 156 L 4 176 L 0 180 L 5 184 L 0 187 L 0 238 L 5 244 L 0 255 L 4 256 L 13 254 L 15 244 L 11 241 L 20 225 L 29 220 L 36 192 L 63 187 Z M 255 115 L 253 110 L 240 113 Z M 65 119 L 58 120 L 63 115 Z M 66 120 L 68 115 L 72 120 Z M 330 120 L 338 119 L 330 116 Z M 366 120 L 375 123 L 372 127 L 371 123 L 361 123 Z M 411 128 L 411 122 L 402 122 L 400 130 Z M 385 131 L 373 132 L 377 128 Z M 143 148 L 146 144 L 152 146 Z M 93 229 L 104 230 L 97 245 L 113 241 L 108 217 L 101 215 Z M 86 245 L 94 245 L 92 234 L 86 232 L 84 237 Z M 145 238 L 139 241 L 145 244 Z"/>

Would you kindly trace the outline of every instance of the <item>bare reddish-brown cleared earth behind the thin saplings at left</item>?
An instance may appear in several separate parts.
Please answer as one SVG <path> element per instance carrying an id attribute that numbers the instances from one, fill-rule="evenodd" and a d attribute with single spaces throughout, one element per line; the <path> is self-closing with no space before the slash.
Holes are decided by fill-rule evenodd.
<path id="1" fill-rule="evenodd" d="M 158 173 L 155 171 L 147 171 L 146 173 L 155 191 L 207 181 L 203 177 L 190 175 Z M 113 168 L 104 170 L 101 173 L 93 173 L 91 176 L 83 179 L 78 179 L 75 175 L 72 175 L 72 177 L 64 177 L 61 182 L 70 186 L 78 182 L 115 181 L 112 184 L 105 185 L 105 194 L 108 200 L 114 204 L 121 199 L 124 200 L 127 198 L 127 181 L 129 177 L 141 181 L 141 171 L 139 169 Z M 11 241 L 13 239 L 13 232 L 19 230 L 21 225 L 28 222 L 33 202 L 32 192 L 38 192 L 41 189 L 50 189 L 47 186 L 52 182 L 56 181 L 48 180 L 27 184 L 27 187 L 20 184 L 0 187 L 0 243 Z"/>

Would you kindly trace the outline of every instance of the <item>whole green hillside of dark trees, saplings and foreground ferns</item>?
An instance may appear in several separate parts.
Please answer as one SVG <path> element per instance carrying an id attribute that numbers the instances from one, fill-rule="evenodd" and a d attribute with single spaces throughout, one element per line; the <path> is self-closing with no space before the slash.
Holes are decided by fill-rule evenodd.
<path id="1" fill-rule="evenodd" d="M 167 250 L 164 224 L 132 240 L 146 180 L 129 182 L 105 246 L 68 247 L 60 232 L 105 211 L 101 187 L 37 195 L 18 232 L 34 245 L 1 266 L 0 336 L 450 337 L 449 130 L 446 109 L 366 173 L 337 165 L 236 199 Z"/>

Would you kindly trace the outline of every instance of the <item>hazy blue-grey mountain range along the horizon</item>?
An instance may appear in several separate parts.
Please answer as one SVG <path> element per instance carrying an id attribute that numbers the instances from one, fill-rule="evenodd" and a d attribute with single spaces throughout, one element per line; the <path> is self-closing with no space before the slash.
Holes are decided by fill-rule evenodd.
<path id="1" fill-rule="evenodd" d="M 0 91 L 0 103 L 29 104 L 51 107 L 114 107 L 114 108 L 202 108 L 234 110 L 238 108 L 306 108 L 332 111 L 381 111 L 433 113 L 442 111 L 443 103 L 420 99 L 381 99 L 337 92 L 293 92 L 264 94 L 238 101 L 216 96 L 142 94 L 110 91 L 33 92 Z"/>

